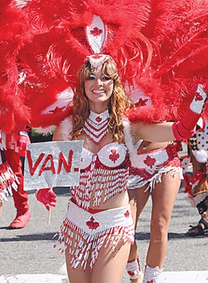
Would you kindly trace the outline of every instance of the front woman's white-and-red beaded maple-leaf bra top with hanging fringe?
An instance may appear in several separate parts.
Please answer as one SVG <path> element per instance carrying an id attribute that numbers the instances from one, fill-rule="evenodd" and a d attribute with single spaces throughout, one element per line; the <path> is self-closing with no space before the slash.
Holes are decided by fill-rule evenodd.
<path id="1" fill-rule="evenodd" d="M 61 124 L 64 140 L 70 139 L 65 134 L 69 133 L 70 122 L 67 119 Z M 79 207 L 86 210 L 105 204 L 115 195 L 127 190 L 129 166 L 129 151 L 125 144 L 105 144 L 96 154 L 83 148 L 79 185 L 71 187 L 71 196 Z"/>

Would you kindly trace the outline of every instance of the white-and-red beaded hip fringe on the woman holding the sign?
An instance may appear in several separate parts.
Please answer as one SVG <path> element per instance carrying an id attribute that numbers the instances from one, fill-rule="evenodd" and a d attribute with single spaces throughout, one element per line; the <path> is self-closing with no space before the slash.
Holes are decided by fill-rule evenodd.
<path id="1" fill-rule="evenodd" d="M 71 203 L 69 205 L 71 205 Z M 81 210 L 83 209 L 80 209 L 80 211 Z M 109 210 L 112 211 L 112 213 L 115 213 L 113 212 L 115 209 Z M 103 222 L 106 221 L 105 212 L 108 212 L 108 210 L 104 211 Z M 103 212 L 98 212 L 97 214 L 100 216 L 102 213 Z M 85 228 L 75 224 L 72 215 L 72 220 L 66 217 L 59 231 L 54 235 L 54 237 L 59 237 L 54 245 L 54 248 L 59 246 L 59 250 L 64 253 L 64 250 L 69 247 L 69 255 L 71 256 L 71 269 L 75 269 L 78 265 L 81 265 L 81 269 L 86 270 L 86 267 L 89 263 L 90 270 L 92 270 L 102 246 L 104 246 L 104 248 L 110 247 L 112 251 L 114 251 L 120 241 L 122 241 L 122 244 L 127 242 L 132 244 L 134 243 L 134 224 L 130 211 L 128 211 L 127 216 L 123 216 L 124 224 L 119 223 L 117 226 L 115 226 L 116 220 L 112 217 L 112 227 L 106 228 L 104 223 L 103 229 L 101 221 L 95 221 L 96 214 L 90 215 L 91 221 L 88 222 L 92 225 L 91 232 L 88 232 Z M 93 217 L 95 217 L 95 219 Z M 84 219 L 84 216 L 81 214 L 80 219 L 83 220 L 84 226 L 86 219 Z M 96 225 L 98 226 L 99 224 L 99 229 L 101 230 L 96 232 Z"/>

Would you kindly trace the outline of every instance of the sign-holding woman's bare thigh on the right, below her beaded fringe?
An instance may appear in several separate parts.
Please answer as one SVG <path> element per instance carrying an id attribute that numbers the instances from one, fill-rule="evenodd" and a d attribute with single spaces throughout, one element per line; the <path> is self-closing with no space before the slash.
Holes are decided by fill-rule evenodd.
<path id="1" fill-rule="evenodd" d="M 131 243 L 117 244 L 115 251 L 112 248 L 100 248 L 96 264 L 93 267 L 91 283 L 120 283 L 125 272 Z M 78 282 L 78 281 L 77 281 Z"/>

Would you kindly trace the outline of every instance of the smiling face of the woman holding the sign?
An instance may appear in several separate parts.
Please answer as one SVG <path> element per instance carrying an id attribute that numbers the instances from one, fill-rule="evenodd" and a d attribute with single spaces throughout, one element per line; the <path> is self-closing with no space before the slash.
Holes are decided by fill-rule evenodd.
<path id="1" fill-rule="evenodd" d="M 102 69 L 91 71 L 84 82 L 86 96 L 92 110 L 106 109 L 113 91 L 113 80 L 103 74 Z"/>

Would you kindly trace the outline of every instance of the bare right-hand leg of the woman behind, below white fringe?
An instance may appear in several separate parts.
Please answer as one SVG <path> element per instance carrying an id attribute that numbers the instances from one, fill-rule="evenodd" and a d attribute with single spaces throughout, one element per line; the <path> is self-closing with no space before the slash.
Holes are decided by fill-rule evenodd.
<path id="1" fill-rule="evenodd" d="M 168 243 L 168 226 L 179 187 L 179 173 L 171 176 L 171 172 L 168 172 L 151 192 L 151 238 L 146 256 L 146 264 L 150 267 L 163 266 Z"/>

